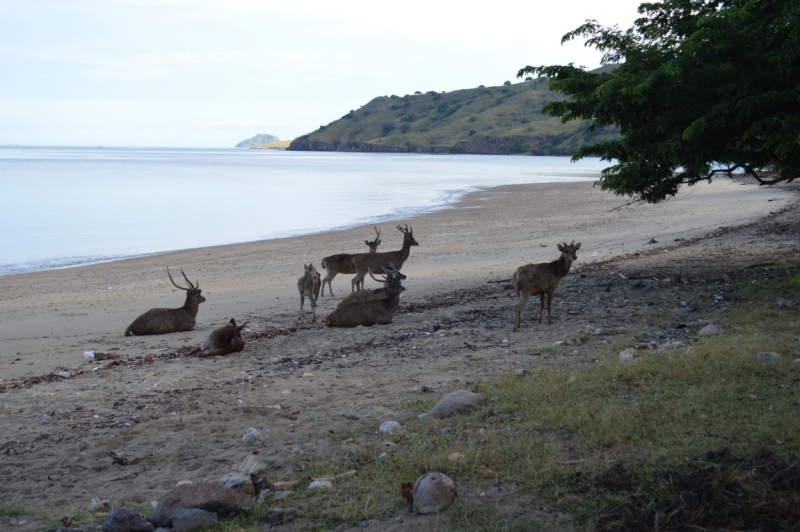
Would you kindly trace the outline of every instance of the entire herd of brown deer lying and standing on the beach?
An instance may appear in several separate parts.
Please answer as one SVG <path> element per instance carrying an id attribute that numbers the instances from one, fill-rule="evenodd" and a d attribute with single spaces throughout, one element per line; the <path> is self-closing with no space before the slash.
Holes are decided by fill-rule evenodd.
<path id="1" fill-rule="evenodd" d="M 398 225 L 397 229 L 403 234 L 403 245 L 399 250 L 379 253 L 381 232 L 375 227 L 375 240 L 364 241 L 369 247 L 368 253 L 339 253 L 322 259 L 322 268 L 327 272 L 324 279 L 320 279 L 320 274 L 313 264 L 303 265 L 304 274 L 297 280 L 297 291 L 300 293 L 300 319 L 303 319 L 303 306 L 305 299 L 308 298 L 311 305 L 311 321 L 317 321 L 317 299 L 320 296 L 320 289 L 324 296 L 327 283 L 329 295 L 333 296 L 331 282 L 334 277 L 342 273 L 355 274 L 350 281 L 350 294 L 342 299 L 334 311 L 325 318 L 325 325 L 328 327 L 357 327 L 359 325 L 370 327 L 391 323 L 400 305 L 400 296 L 405 290 L 402 281 L 406 279 L 406 276 L 400 273 L 400 268 L 408 259 L 411 246 L 419 245 L 414 238 L 413 230 L 408 225 L 405 227 Z M 545 299 L 547 299 L 547 321 L 552 323 L 550 313 L 553 295 L 559 281 L 567 275 L 573 261 L 577 260 L 576 252 L 580 247 L 580 242 L 577 244 L 574 241 L 571 244 L 564 242 L 558 244 L 561 256 L 557 260 L 540 264 L 526 264 L 517 268 L 513 277 L 517 297 L 517 305 L 514 310 L 514 332 L 519 330 L 522 308 L 530 296 L 539 296 L 539 323 L 542 322 Z M 379 275 L 382 274 L 381 278 L 375 277 L 376 272 Z M 172 284 L 176 288 L 186 291 L 186 301 L 183 306 L 174 309 L 148 310 L 125 329 L 125 336 L 167 334 L 194 329 L 200 303 L 204 302 L 206 298 L 201 295 L 202 291 L 197 281 L 192 283 L 183 271 L 181 274 L 188 288 L 176 283 L 167 268 L 167 276 Z M 365 290 L 364 279 L 367 275 L 383 286 L 375 290 Z M 197 354 L 201 357 L 220 356 L 243 350 L 245 341 L 242 338 L 242 330 L 248 323 L 251 322 L 237 325 L 236 321 L 231 319 L 224 327 L 215 329 L 190 354 Z"/>

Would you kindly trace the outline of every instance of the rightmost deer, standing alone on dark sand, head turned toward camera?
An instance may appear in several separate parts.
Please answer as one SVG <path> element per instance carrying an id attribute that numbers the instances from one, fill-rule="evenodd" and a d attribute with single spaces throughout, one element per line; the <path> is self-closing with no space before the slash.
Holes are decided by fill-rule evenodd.
<path id="1" fill-rule="evenodd" d="M 581 248 L 581 243 L 558 244 L 561 257 L 553 262 L 540 264 L 526 264 L 514 272 L 514 288 L 517 291 L 517 307 L 514 310 L 514 332 L 519 331 L 519 320 L 522 307 L 530 296 L 539 296 L 539 323 L 542 323 L 544 314 L 544 299 L 547 296 L 547 323 L 552 324 L 550 310 L 553 307 L 553 295 L 556 293 L 559 281 L 564 278 L 572 267 L 572 262 L 578 260 L 575 254 Z"/>

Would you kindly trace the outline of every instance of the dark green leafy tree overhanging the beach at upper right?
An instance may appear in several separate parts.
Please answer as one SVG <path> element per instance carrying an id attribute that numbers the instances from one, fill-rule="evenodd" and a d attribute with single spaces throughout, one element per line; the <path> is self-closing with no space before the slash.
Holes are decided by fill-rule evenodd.
<path id="1" fill-rule="evenodd" d="M 762 185 L 800 177 L 800 1 L 664 0 L 622 31 L 596 21 L 586 38 L 613 69 L 527 66 L 569 99 L 543 113 L 618 140 L 579 149 L 614 164 L 603 190 L 657 203 L 681 185 L 743 171 Z"/>

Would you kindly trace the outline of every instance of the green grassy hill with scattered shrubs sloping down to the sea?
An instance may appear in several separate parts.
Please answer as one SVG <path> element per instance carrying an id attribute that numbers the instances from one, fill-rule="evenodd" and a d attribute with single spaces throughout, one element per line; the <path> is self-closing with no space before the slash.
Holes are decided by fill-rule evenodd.
<path id="1" fill-rule="evenodd" d="M 547 80 L 448 93 L 379 96 L 341 119 L 292 141 L 290 150 L 570 155 L 589 140 L 587 124 L 541 114 L 562 96 Z"/>

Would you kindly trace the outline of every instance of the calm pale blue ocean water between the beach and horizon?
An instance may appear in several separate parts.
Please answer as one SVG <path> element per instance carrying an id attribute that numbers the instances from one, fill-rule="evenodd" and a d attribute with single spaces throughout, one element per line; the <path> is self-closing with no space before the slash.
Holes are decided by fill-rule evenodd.
<path id="1" fill-rule="evenodd" d="M 0 275 L 252 242 L 594 180 L 568 157 L 0 147 Z"/>

